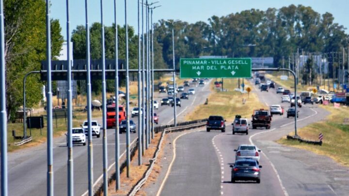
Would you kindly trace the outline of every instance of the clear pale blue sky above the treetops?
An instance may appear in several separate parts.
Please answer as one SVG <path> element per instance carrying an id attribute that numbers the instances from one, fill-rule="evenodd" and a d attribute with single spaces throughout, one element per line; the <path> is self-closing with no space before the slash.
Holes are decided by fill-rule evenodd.
<path id="1" fill-rule="evenodd" d="M 142 1 L 142 0 L 140 0 Z M 148 3 L 158 0 L 149 0 Z M 127 0 L 127 23 L 137 32 L 138 0 Z M 145 3 L 145 0 L 143 0 Z M 116 0 L 117 24 L 125 25 L 125 0 Z M 310 6 L 321 15 L 329 12 L 334 22 L 349 27 L 349 0 L 159 0 L 161 5 L 153 11 L 153 22 L 159 19 L 180 19 L 189 23 L 207 22 L 212 15 L 219 17 L 243 10 L 267 10 L 270 7 L 281 8 L 290 4 Z M 51 0 L 50 17 L 59 19 L 62 35 L 66 39 L 66 0 Z M 105 26 L 114 22 L 114 0 L 103 0 L 103 17 Z M 70 0 L 70 33 L 78 25 L 85 26 L 85 0 Z M 100 0 L 88 0 L 89 23 L 100 22 Z M 144 12 L 145 15 L 145 12 Z M 142 13 L 141 13 L 142 16 Z M 349 33 L 349 30 L 346 30 Z"/>

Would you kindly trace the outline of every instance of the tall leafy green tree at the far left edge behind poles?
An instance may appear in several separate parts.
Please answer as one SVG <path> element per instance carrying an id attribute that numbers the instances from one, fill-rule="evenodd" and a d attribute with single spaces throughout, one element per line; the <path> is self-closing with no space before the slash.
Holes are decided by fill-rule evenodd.
<path id="1" fill-rule="evenodd" d="M 23 103 L 23 77 L 39 70 L 40 61 L 46 59 L 46 3 L 45 0 L 4 2 L 5 61 L 6 61 L 6 109 L 8 120 L 14 119 Z M 59 55 L 63 37 L 58 20 L 51 23 L 52 58 Z M 43 82 L 39 77 L 27 79 L 26 104 L 31 107 L 40 102 Z"/>

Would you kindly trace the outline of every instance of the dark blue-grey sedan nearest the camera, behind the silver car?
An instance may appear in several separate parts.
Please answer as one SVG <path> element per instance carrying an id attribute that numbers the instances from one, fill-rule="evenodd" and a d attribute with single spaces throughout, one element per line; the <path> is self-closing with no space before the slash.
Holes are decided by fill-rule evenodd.
<path id="1" fill-rule="evenodd" d="M 256 181 L 260 183 L 260 168 L 258 162 L 253 159 L 239 159 L 231 170 L 231 181 Z"/>

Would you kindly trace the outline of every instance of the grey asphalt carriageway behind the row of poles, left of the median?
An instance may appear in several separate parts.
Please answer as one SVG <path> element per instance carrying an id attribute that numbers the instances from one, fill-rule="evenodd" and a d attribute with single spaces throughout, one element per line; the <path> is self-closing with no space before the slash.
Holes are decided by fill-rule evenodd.
<path id="1" fill-rule="evenodd" d="M 182 84 L 178 84 L 180 86 Z M 183 121 L 183 116 L 189 113 L 192 108 L 203 104 L 209 94 L 209 85 L 205 87 L 196 87 L 191 84 L 186 87 L 195 89 L 195 95 L 190 95 L 189 100 L 181 100 L 181 107 L 177 107 L 178 121 Z M 160 102 L 162 97 L 167 97 L 167 93 L 155 93 L 156 99 Z M 159 115 L 159 125 L 173 123 L 173 111 L 171 106 L 159 106 L 155 112 Z M 138 117 L 132 118 L 138 122 Z M 96 119 L 101 122 L 101 119 Z M 115 161 L 115 140 L 114 128 L 108 129 L 108 165 L 114 167 Z M 130 140 L 137 138 L 136 134 L 131 134 Z M 54 138 L 53 145 L 53 169 L 54 169 L 54 194 L 63 196 L 67 194 L 67 147 L 65 136 Z M 120 136 L 120 152 L 123 153 L 126 148 L 126 134 Z M 93 162 L 94 162 L 94 181 L 102 180 L 102 136 L 93 137 Z M 73 147 L 74 156 L 74 193 L 82 195 L 88 189 L 87 184 L 87 145 L 75 145 Z M 8 154 L 8 185 L 9 195 L 11 196 L 39 196 L 47 193 L 47 151 L 46 142 L 42 145 L 31 147 Z M 100 181 L 99 181 L 100 182 Z"/>

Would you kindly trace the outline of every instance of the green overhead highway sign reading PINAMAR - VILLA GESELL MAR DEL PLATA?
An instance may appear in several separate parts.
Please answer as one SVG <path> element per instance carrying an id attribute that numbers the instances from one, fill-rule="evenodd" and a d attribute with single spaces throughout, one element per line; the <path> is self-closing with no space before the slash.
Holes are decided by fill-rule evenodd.
<path id="1" fill-rule="evenodd" d="M 251 58 L 180 59 L 181 78 L 251 77 Z"/>

